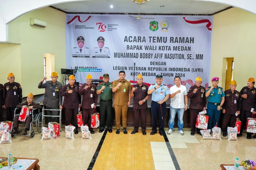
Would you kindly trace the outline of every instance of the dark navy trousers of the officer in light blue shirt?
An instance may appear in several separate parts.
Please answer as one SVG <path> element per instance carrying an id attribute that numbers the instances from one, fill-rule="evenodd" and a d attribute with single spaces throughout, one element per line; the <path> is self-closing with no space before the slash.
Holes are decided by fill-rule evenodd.
<path id="1" fill-rule="evenodd" d="M 160 104 L 157 102 L 151 102 L 151 123 L 152 132 L 157 132 L 157 120 L 159 119 L 159 132 L 164 132 L 164 117 L 166 113 L 166 102 L 162 103 L 162 114 Z"/>

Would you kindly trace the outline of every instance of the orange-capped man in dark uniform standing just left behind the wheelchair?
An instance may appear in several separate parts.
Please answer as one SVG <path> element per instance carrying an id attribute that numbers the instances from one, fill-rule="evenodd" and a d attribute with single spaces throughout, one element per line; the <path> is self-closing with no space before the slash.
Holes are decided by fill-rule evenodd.
<path id="1" fill-rule="evenodd" d="M 22 88 L 20 83 L 14 82 L 13 73 L 9 73 L 7 79 L 9 82 L 4 84 L 3 102 L 6 108 L 6 120 L 12 121 L 16 105 L 22 102 Z"/>

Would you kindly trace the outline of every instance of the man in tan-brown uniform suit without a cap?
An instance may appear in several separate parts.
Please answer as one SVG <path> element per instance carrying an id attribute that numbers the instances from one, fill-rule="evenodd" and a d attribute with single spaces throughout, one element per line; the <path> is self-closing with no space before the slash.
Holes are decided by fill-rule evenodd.
<path id="1" fill-rule="evenodd" d="M 132 85 L 125 78 L 125 71 L 119 71 L 119 79 L 114 80 L 112 92 L 114 93 L 114 108 L 116 113 L 116 134 L 120 133 L 120 119 L 122 115 L 123 133 L 127 134 L 127 111 L 131 104 Z"/>

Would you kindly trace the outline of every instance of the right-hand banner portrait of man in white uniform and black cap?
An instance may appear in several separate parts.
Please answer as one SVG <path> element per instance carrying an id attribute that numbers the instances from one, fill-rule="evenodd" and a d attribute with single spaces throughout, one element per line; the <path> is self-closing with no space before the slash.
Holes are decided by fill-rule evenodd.
<path id="1" fill-rule="evenodd" d="M 92 57 L 95 58 L 110 58 L 110 52 L 108 47 L 104 47 L 105 39 L 103 37 L 99 37 L 97 39 L 98 47 L 95 47 L 92 52 Z"/>

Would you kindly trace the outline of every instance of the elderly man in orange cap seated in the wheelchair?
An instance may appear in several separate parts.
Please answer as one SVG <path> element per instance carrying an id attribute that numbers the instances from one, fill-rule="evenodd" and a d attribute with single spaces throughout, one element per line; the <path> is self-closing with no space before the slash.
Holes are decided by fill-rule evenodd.
<path id="1" fill-rule="evenodd" d="M 27 96 L 27 102 L 23 102 L 23 103 L 17 105 L 16 108 L 24 108 L 24 107 L 28 106 L 29 109 L 33 109 L 33 108 L 41 109 L 42 107 L 39 104 L 34 103 L 33 99 L 34 99 L 34 96 L 33 96 L 32 93 L 30 93 Z M 19 116 L 20 116 L 20 114 L 17 114 L 14 117 L 14 123 L 13 123 L 14 131 L 11 132 L 11 134 L 18 134 L 18 119 L 19 119 Z M 30 116 L 28 116 L 26 118 L 26 121 L 25 121 L 26 122 L 26 128 L 25 128 L 24 132 L 22 133 L 22 135 L 27 135 L 27 131 L 30 129 L 31 121 L 32 121 L 32 113 L 30 112 Z"/>

